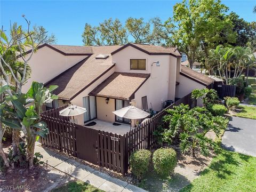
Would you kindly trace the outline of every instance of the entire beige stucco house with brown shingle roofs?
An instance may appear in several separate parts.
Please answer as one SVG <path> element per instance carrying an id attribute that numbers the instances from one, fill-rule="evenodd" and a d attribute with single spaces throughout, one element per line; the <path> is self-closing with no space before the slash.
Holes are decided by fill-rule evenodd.
<path id="1" fill-rule="evenodd" d="M 41 45 L 29 65 L 32 81 L 58 85 L 55 108 L 68 102 L 87 109 L 78 124 L 98 118 L 129 123 L 112 111 L 129 106 L 159 111 L 166 100 L 182 98 L 194 89 L 209 87 L 213 79 L 181 66 L 175 48 L 134 44 L 113 46 Z"/>

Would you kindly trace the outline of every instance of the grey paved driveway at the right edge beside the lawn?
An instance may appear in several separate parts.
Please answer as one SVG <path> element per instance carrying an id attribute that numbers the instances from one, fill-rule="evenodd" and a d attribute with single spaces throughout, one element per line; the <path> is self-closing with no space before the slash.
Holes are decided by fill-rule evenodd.
<path id="1" fill-rule="evenodd" d="M 256 120 L 232 117 L 222 137 L 222 146 L 256 157 Z"/>

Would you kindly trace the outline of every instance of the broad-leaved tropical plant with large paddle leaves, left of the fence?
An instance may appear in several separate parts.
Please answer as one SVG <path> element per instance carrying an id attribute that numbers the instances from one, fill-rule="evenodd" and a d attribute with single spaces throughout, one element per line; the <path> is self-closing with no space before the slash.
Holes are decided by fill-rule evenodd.
<path id="1" fill-rule="evenodd" d="M 51 92 L 58 86 L 50 86 L 49 89 L 43 83 L 33 82 L 27 94 L 16 94 L 12 97 L 13 108 L 5 108 L 5 116 L 2 122 L 13 129 L 21 130 L 25 135 L 27 150 L 26 159 L 29 162 L 29 169 L 33 168 L 35 142 L 39 136 L 45 137 L 48 133 L 47 124 L 41 121 L 40 114 L 42 106 L 52 102 L 58 97 Z M 29 105 L 28 105 L 29 104 Z"/>

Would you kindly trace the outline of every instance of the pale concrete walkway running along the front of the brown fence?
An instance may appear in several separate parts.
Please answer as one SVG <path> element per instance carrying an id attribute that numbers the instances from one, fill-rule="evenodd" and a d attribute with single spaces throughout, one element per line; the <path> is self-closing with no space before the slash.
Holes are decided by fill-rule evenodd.
<path id="1" fill-rule="evenodd" d="M 94 170 L 89 166 L 74 161 L 73 159 L 69 159 L 53 153 L 52 151 L 46 150 L 40 145 L 40 143 L 36 143 L 35 153 L 39 152 L 43 155 L 42 161 L 44 163 L 79 180 L 90 183 L 90 185 L 93 185 L 94 187 L 107 192 L 146 192 L 146 190 L 128 184 L 125 181 L 110 177 L 108 174 Z"/>

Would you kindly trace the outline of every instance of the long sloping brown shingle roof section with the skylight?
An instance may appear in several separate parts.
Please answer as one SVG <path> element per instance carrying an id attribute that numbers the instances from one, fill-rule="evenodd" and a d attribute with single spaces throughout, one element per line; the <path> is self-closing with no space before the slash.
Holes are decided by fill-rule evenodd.
<path id="1" fill-rule="evenodd" d="M 58 85 L 54 90 L 60 99 L 73 99 L 81 93 L 100 76 L 114 67 L 110 53 L 120 46 L 95 46 L 91 47 L 93 54 L 87 56 L 73 67 L 67 69 L 62 74 L 47 82 L 45 86 Z M 109 54 L 107 59 L 96 59 L 99 54 Z"/>

